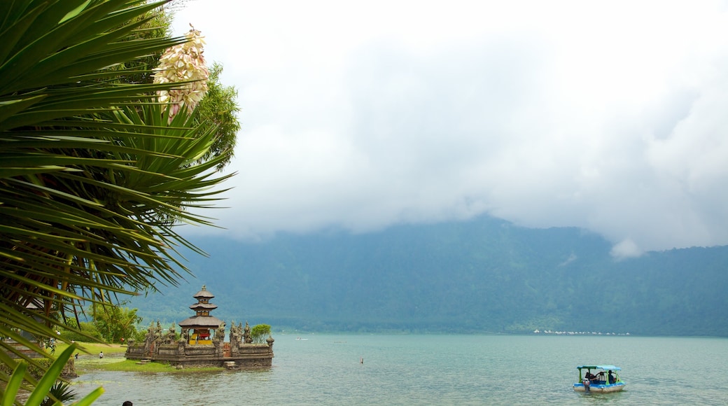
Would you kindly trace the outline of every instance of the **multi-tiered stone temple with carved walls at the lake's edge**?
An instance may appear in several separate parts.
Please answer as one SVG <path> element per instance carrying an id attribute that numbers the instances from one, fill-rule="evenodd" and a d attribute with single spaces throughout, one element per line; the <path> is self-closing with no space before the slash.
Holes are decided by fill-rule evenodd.
<path id="1" fill-rule="evenodd" d="M 250 326 L 245 322 L 230 327 L 230 340 L 225 341 L 225 322 L 211 316 L 217 309 L 210 299 L 215 296 L 202 286 L 194 295 L 197 303 L 189 306 L 195 315 L 179 322 L 182 330 L 177 338 L 174 324 L 169 333 L 162 334 L 157 321 L 149 325 L 143 343 L 129 341 L 127 359 L 148 359 L 165 362 L 175 367 L 269 367 L 273 359 L 273 337 L 267 343 L 253 343 Z"/>

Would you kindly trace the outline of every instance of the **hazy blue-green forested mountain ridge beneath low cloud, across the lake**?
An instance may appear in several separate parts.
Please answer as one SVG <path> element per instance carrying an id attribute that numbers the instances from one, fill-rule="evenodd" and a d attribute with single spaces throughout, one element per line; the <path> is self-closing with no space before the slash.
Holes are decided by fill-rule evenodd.
<path id="1" fill-rule="evenodd" d="M 728 336 L 728 247 L 618 260 L 578 228 L 487 216 L 371 234 L 196 237 L 197 279 L 132 300 L 144 322 L 178 322 L 202 284 L 215 316 L 274 331 Z"/>

